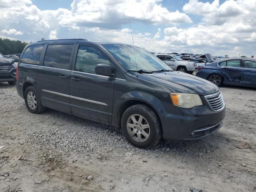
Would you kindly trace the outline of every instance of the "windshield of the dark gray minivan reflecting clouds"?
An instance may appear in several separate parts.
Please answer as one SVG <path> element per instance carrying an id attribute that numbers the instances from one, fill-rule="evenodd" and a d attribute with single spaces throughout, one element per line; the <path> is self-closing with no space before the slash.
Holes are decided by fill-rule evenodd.
<path id="1" fill-rule="evenodd" d="M 142 48 L 118 44 L 102 44 L 102 46 L 104 46 L 104 48 L 106 48 L 127 71 L 172 71 L 167 64 Z"/>

